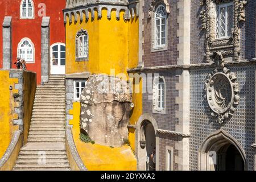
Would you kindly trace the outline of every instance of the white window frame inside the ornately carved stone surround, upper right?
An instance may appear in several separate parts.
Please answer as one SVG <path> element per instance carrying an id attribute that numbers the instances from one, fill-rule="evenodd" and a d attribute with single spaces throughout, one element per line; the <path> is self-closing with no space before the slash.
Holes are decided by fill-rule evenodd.
<path id="1" fill-rule="evenodd" d="M 228 35 L 228 6 L 232 5 L 232 9 L 233 9 L 233 16 L 234 16 L 234 3 L 233 2 L 229 2 L 229 3 L 221 3 L 220 5 L 216 5 L 216 38 L 217 39 L 225 39 L 225 38 L 229 38 L 230 36 Z M 221 21 L 220 21 L 220 10 L 221 8 L 225 7 L 225 36 L 221 36 Z M 218 9 L 218 14 L 217 14 L 217 9 Z M 219 18 L 217 20 L 217 18 Z M 233 21 L 234 21 L 234 17 L 233 17 Z M 218 23 L 217 23 L 218 22 Z M 233 22 L 232 22 L 233 23 Z M 233 23 L 233 27 L 234 27 L 234 23 Z M 217 35 L 217 30 L 218 30 L 218 35 Z"/>

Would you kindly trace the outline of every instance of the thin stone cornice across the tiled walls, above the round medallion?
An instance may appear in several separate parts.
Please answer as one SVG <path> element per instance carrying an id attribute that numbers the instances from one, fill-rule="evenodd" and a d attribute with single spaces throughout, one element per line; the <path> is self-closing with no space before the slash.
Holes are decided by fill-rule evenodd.
<path id="1" fill-rule="evenodd" d="M 256 59 L 251 60 L 238 60 L 238 61 L 225 61 L 225 65 L 244 65 L 244 64 L 256 64 Z M 199 69 L 199 68 L 210 68 L 214 67 L 214 63 L 201 63 L 201 64 L 190 64 L 190 65 L 167 65 L 160 67 L 143 67 L 127 69 L 128 73 L 132 72 L 143 72 L 143 71 L 156 71 L 156 70 L 169 70 L 169 69 Z"/>

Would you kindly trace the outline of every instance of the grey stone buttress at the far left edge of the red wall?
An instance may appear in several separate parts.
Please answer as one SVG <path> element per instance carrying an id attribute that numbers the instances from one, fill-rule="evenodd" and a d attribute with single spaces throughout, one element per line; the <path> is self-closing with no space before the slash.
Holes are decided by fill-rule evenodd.
<path id="1" fill-rule="evenodd" d="M 3 69 L 11 68 L 11 16 L 5 16 L 3 20 Z"/>

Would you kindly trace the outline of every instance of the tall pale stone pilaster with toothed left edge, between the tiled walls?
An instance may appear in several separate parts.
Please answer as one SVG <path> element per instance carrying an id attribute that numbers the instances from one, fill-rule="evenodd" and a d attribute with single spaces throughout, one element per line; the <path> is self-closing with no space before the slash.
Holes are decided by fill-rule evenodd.
<path id="1" fill-rule="evenodd" d="M 179 16 L 177 22 L 179 29 L 177 36 L 179 44 L 177 50 L 179 56 L 177 58 L 178 65 L 190 64 L 190 31 L 191 31 L 191 0 L 179 0 L 177 8 Z M 179 125 L 176 125 L 176 131 L 180 133 L 189 133 L 190 119 L 190 74 L 188 70 L 177 70 L 179 75 L 179 83 L 176 83 L 176 90 L 179 90 L 179 97 L 176 97 L 176 104 L 179 104 L 179 110 L 176 111 L 176 117 L 179 118 Z M 179 164 L 179 171 L 189 170 L 189 138 L 181 138 L 176 143 L 176 149 L 179 150 L 179 157 L 176 163 Z"/>

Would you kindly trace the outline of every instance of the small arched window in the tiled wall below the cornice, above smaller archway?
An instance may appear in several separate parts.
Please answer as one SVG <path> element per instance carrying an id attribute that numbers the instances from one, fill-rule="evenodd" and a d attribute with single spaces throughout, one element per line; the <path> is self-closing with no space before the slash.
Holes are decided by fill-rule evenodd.
<path id="1" fill-rule="evenodd" d="M 165 113 L 166 109 L 166 83 L 163 77 L 155 77 L 153 85 L 153 111 Z"/>

